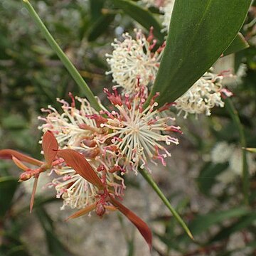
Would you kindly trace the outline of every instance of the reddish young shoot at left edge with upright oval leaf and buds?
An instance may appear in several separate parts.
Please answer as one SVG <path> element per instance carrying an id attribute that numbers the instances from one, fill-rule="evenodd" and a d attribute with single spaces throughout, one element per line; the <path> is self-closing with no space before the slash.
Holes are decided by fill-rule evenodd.
<path id="1" fill-rule="evenodd" d="M 35 178 L 35 181 L 33 183 L 33 192 L 31 196 L 30 211 L 33 208 L 33 201 L 36 194 L 36 186 L 40 174 L 61 163 L 61 160 L 55 159 L 58 151 L 58 143 L 51 132 L 46 132 L 45 134 L 43 134 L 42 148 L 43 155 L 46 159 L 45 162 L 33 159 L 30 156 L 26 156 L 12 149 L 0 150 L 0 159 L 13 159 L 14 163 L 18 166 L 18 168 L 23 170 L 23 173 L 20 175 L 19 181 L 26 181 L 31 177 Z M 31 169 L 30 167 L 23 164 L 23 162 L 35 165 L 37 166 L 37 168 Z"/>

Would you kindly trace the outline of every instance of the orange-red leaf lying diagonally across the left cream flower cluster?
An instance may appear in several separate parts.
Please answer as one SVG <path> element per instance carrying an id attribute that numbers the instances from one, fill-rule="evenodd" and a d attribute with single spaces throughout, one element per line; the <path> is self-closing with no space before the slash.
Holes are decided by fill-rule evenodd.
<path id="1" fill-rule="evenodd" d="M 58 151 L 58 156 L 63 158 L 82 178 L 97 186 L 97 188 L 104 188 L 99 176 L 92 169 L 92 166 L 87 162 L 84 156 L 73 149 L 63 149 Z"/>

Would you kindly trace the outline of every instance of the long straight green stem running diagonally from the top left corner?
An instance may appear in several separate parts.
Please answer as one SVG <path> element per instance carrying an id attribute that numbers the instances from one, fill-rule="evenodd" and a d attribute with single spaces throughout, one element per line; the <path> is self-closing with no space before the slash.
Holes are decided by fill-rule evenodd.
<path id="1" fill-rule="evenodd" d="M 26 9 L 28 10 L 28 13 L 33 18 L 33 21 L 36 23 L 38 28 L 40 28 L 41 32 L 43 33 L 43 36 L 46 38 L 46 41 L 48 41 L 50 47 L 53 48 L 53 50 L 55 51 L 55 53 L 60 58 L 63 65 L 65 65 L 65 68 L 67 68 L 68 72 L 73 77 L 75 82 L 78 84 L 78 86 L 80 87 L 82 92 L 84 92 L 85 96 L 89 100 L 92 107 L 94 107 L 95 110 L 99 111 L 100 110 L 100 105 L 97 102 L 97 100 L 95 99 L 95 95 L 93 95 L 92 91 L 88 87 L 85 80 L 82 79 L 82 76 L 80 75 L 78 70 L 75 68 L 73 63 L 71 63 L 71 61 L 68 59 L 67 55 L 65 55 L 65 53 L 63 52 L 63 50 L 61 50 L 60 46 L 58 46 L 58 43 L 56 43 L 53 36 L 51 36 L 50 32 L 48 31 L 48 29 L 44 25 L 41 18 L 38 16 L 35 9 L 33 9 L 33 6 L 30 4 L 30 2 L 28 0 L 23 0 L 23 4 L 26 7 Z"/>

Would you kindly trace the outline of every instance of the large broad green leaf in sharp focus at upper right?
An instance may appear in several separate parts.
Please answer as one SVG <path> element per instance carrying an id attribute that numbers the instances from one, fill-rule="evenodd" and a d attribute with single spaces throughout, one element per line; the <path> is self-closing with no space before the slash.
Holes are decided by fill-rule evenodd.
<path id="1" fill-rule="evenodd" d="M 183 95 L 237 36 L 251 0 L 178 0 L 166 48 L 147 100 L 160 92 L 159 107 Z"/>

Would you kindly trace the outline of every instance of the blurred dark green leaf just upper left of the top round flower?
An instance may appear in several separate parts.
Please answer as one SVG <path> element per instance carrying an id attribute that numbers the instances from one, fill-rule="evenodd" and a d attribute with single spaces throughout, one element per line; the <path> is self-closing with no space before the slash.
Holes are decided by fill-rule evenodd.
<path id="1" fill-rule="evenodd" d="M 110 23 L 112 23 L 114 17 L 114 14 L 105 14 L 98 18 L 97 21 L 90 27 L 90 31 L 88 31 L 88 41 L 95 41 L 99 36 L 101 36 L 102 33 L 104 33 L 110 26 Z"/>

